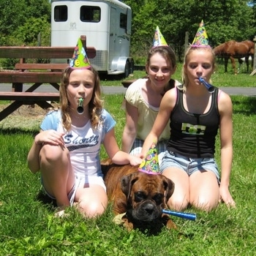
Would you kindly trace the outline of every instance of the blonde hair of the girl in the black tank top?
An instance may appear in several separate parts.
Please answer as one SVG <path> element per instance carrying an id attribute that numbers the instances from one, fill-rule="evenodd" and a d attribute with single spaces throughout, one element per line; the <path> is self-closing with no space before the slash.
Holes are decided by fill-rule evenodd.
<path id="1" fill-rule="evenodd" d="M 183 86 L 178 87 L 178 89 L 183 90 L 183 91 L 187 90 L 187 86 L 188 86 L 188 83 L 189 83 L 189 79 L 187 78 L 187 74 L 184 71 L 184 66 L 187 65 L 188 57 L 194 50 L 209 50 L 212 54 L 212 59 L 213 59 L 212 65 L 213 65 L 214 69 L 216 68 L 214 50 L 212 50 L 211 48 L 206 48 L 206 47 L 203 48 L 203 47 L 191 47 L 191 46 L 189 46 L 189 48 L 187 48 L 187 51 L 185 53 L 184 64 L 183 64 L 182 69 L 181 69 L 181 79 L 182 79 Z M 211 83 L 211 80 L 210 80 L 210 83 Z"/>

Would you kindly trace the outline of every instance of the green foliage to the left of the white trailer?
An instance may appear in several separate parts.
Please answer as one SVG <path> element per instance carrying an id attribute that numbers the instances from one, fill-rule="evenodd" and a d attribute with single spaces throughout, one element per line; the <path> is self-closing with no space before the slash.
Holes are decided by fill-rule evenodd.
<path id="1" fill-rule="evenodd" d="M 49 45 L 48 0 L 0 0 L 0 17 L 0 45 L 37 45 L 37 34 L 40 31 L 48 37 L 45 43 Z M 45 31 L 48 31 L 47 34 Z"/>

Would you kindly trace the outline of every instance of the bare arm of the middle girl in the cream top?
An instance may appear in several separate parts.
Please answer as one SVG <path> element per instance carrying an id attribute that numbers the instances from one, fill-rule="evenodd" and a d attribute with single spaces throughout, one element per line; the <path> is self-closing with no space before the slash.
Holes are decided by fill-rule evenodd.
<path id="1" fill-rule="evenodd" d="M 126 102 L 126 124 L 124 127 L 121 150 L 129 153 L 132 148 L 132 144 L 135 141 L 137 135 L 137 124 L 138 124 L 138 108 Z"/>

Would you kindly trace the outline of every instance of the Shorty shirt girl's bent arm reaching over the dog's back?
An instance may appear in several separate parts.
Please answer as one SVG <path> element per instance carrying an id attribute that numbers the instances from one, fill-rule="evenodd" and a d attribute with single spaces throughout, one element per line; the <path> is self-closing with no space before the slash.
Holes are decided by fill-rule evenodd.
<path id="1" fill-rule="evenodd" d="M 114 128 L 110 129 L 110 131 L 106 133 L 103 145 L 108 153 L 108 157 L 110 157 L 110 159 L 112 159 L 112 161 L 116 165 L 130 164 L 132 166 L 135 166 L 140 165 L 140 162 L 142 162 L 142 159 L 140 159 L 139 157 L 132 156 L 124 151 L 119 150 L 116 143 Z"/>

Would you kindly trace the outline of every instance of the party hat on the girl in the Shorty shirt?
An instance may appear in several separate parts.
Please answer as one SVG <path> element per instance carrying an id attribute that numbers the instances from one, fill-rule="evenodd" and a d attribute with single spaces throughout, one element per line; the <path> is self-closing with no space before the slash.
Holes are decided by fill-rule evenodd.
<path id="1" fill-rule="evenodd" d="M 91 67 L 86 50 L 83 48 L 83 43 L 80 38 L 75 46 L 72 59 L 69 61 L 69 67 L 72 67 L 73 69 L 89 69 Z"/>

